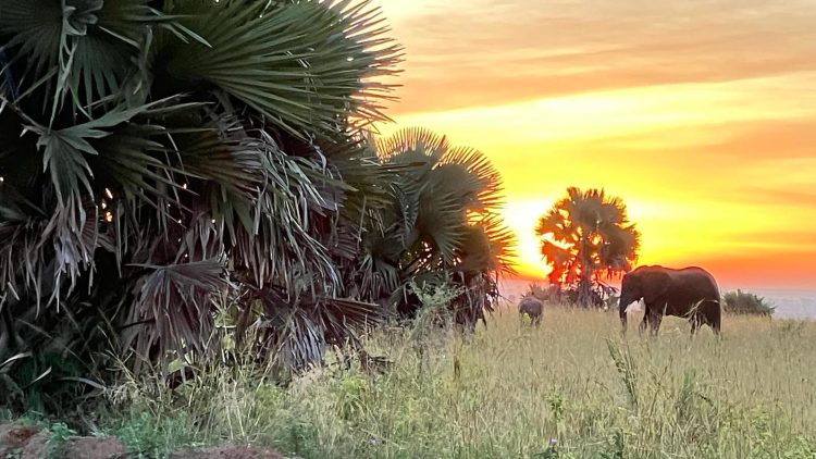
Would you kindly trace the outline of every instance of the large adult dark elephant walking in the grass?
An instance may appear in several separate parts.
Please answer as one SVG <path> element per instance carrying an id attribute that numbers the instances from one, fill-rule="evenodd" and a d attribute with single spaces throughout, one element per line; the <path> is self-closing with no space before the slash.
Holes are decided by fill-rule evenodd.
<path id="1" fill-rule="evenodd" d="M 640 266 L 626 274 L 620 286 L 620 323 L 627 330 L 627 308 L 643 299 L 645 311 L 641 333 L 652 327 L 656 335 L 664 315 L 688 318 L 692 335 L 707 324 L 719 334 L 720 296 L 717 282 L 702 268 L 675 270 Z"/>

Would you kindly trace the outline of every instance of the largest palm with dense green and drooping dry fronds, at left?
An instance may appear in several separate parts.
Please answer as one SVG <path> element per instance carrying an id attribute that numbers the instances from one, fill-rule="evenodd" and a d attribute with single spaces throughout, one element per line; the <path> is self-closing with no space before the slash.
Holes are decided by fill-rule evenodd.
<path id="1" fill-rule="evenodd" d="M 400 51 L 378 9 L 0 0 L 0 361 L 59 351 L 82 369 L 111 342 L 134 368 L 207 355 L 226 298 L 258 325 L 252 343 L 298 367 L 376 318 L 345 299 L 355 232 L 327 228 L 363 207 L 367 178 L 355 177 L 380 173 L 362 129 L 385 120 L 381 77 Z M 35 357 L 16 359 L 28 365 L 18 373 L 59 381 Z"/>

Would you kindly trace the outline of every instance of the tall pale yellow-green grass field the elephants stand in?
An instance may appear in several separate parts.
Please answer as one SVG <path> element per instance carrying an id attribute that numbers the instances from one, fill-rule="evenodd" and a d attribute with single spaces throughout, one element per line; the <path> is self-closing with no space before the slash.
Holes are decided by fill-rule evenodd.
<path id="1" fill-rule="evenodd" d="M 421 346 L 379 332 L 369 347 L 396 364 L 376 376 L 332 365 L 281 388 L 223 370 L 158 398 L 131 385 L 121 413 L 302 458 L 816 457 L 816 323 L 727 315 L 721 339 L 703 328 L 693 340 L 675 319 L 656 339 L 632 326 L 622 339 L 617 313 L 601 311 L 489 324 Z"/>

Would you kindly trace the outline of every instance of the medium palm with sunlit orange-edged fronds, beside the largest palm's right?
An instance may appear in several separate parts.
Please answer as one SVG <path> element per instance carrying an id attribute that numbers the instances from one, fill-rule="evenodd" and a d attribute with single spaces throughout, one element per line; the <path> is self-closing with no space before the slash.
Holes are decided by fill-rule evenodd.
<path id="1" fill-rule="evenodd" d="M 511 270 L 498 172 L 480 151 L 422 128 L 380 139 L 378 151 L 392 171 L 391 202 L 364 239 L 360 284 L 368 298 L 390 298 L 412 315 L 419 305 L 409 285 L 450 284 L 460 288 L 452 305 L 457 323 L 474 326 L 497 299 L 497 276 Z"/>

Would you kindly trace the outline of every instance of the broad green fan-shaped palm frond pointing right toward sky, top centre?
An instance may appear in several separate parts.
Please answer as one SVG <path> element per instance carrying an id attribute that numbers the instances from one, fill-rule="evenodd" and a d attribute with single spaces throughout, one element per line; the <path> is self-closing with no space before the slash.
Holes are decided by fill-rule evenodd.
<path id="1" fill-rule="evenodd" d="M 171 90 L 213 85 L 293 133 L 333 129 L 356 110 L 379 112 L 367 100 L 387 88 L 367 78 L 398 60 L 384 30 L 370 28 L 375 10 L 364 3 L 176 2 L 172 13 L 209 47 L 160 40 L 154 55 L 166 63 L 160 76 Z"/>

